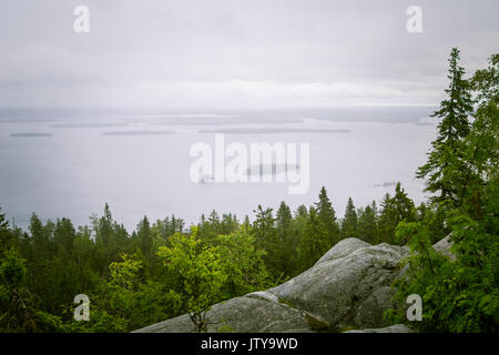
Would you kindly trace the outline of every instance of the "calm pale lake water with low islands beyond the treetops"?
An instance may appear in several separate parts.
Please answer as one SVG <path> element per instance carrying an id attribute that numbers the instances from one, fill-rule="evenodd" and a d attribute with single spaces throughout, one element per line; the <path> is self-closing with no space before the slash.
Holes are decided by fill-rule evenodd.
<path id="1" fill-rule="evenodd" d="M 104 203 L 128 227 L 174 213 L 189 223 L 213 209 L 253 217 L 258 204 L 293 209 L 317 200 L 325 185 L 337 214 L 348 196 L 356 206 L 380 201 L 400 181 L 424 200 L 417 166 L 436 134 L 431 108 L 254 111 L 0 110 L 0 205 L 27 226 L 67 216 L 85 224 Z M 200 131 L 204 133 L 200 133 Z M 192 144 L 309 143 L 308 193 L 289 183 L 195 183 Z"/>

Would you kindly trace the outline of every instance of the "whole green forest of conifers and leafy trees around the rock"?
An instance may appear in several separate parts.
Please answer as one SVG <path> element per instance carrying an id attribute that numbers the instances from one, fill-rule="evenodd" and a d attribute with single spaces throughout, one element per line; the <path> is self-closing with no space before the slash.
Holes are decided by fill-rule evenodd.
<path id="1" fill-rule="evenodd" d="M 131 332 L 184 313 L 205 329 L 211 305 L 265 290 L 304 272 L 343 239 L 407 245 L 400 302 L 419 294 L 420 332 L 497 332 L 499 54 L 466 78 L 459 50 L 435 111 L 437 139 L 416 178 L 431 197 L 416 205 L 398 183 L 383 201 L 347 202 L 343 217 L 326 187 L 296 211 L 283 201 L 256 206 L 253 222 L 216 211 L 186 226 L 175 215 L 128 231 L 105 204 L 75 226 L 41 221 L 28 231 L 0 210 L 0 332 Z M 432 244 L 450 235 L 455 258 Z M 73 317 L 74 296 L 90 298 L 90 320 Z M 386 313 L 394 322 L 404 314 Z"/>

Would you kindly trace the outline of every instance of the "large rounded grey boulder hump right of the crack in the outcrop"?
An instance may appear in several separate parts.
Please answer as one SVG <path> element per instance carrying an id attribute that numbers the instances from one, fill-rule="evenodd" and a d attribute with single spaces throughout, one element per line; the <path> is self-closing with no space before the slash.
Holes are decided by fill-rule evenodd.
<path id="1" fill-rule="evenodd" d="M 389 325 L 383 321 L 383 314 L 396 306 L 390 301 L 395 294 L 390 285 L 398 275 L 398 262 L 409 254 L 408 248 L 386 243 L 357 247 L 359 241 L 354 239 L 343 242 L 337 246 L 350 253 L 317 263 L 268 292 L 325 320 L 332 331 Z"/>

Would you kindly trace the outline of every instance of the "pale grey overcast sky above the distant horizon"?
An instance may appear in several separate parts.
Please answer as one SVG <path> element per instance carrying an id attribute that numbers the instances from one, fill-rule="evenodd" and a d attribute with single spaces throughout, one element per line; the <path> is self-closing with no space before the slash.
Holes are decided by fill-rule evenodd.
<path id="1" fill-rule="evenodd" d="M 468 72 L 499 52 L 498 18 L 497 0 L 1 0 L 0 106 L 435 105 L 451 47 Z"/>

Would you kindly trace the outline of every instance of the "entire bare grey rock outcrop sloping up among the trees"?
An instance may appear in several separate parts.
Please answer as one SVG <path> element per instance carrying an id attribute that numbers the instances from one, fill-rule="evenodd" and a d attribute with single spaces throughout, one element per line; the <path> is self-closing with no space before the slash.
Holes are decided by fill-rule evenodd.
<path id="1" fill-rule="evenodd" d="M 262 292 L 215 304 L 208 332 L 340 332 L 381 328 L 384 312 L 396 307 L 390 284 L 407 247 L 343 240 L 313 267 Z M 187 315 L 135 332 L 193 332 Z M 365 329 L 367 331 L 367 329 Z"/>

